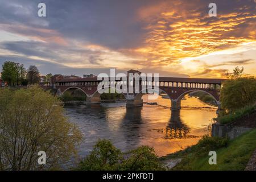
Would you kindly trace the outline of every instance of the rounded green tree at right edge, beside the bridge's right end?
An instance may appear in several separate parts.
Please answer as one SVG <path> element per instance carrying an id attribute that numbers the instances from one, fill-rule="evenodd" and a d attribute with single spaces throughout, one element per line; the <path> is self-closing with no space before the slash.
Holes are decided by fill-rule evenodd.
<path id="1" fill-rule="evenodd" d="M 220 94 L 223 109 L 234 111 L 256 103 L 256 79 L 242 77 L 223 83 Z"/>

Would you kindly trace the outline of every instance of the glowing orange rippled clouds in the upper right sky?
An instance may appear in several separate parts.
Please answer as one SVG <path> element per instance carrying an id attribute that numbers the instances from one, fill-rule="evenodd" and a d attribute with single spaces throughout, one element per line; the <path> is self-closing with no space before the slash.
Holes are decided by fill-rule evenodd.
<path id="1" fill-rule="evenodd" d="M 165 67 L 180 64 L 189 57 L 208 55 L 256 40 L 256 15 L 246 6 L 214 18 L 203 13 L 202 9 L 207 7 L 202 6 L 195 2 L 168 1 L 143 7 L 138 17 L 147 24 L 144 27 L 148 30 L 144 40 L 146 46 L 130 49 L 129 53 L 145 57 L 152 67 Z M 197 74 L 191 73 L 191 76 L 222 77 L 225 71 L 197 69 Z"/>

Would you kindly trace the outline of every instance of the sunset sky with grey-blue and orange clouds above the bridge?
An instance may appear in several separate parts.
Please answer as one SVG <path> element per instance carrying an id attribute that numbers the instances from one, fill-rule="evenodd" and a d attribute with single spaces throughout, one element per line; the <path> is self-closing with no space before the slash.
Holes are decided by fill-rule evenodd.
<path id="1" fill-rule="evenodd" d="M 46 17 L 38 4 L 46 4 Z M 209 3 L 217 5 L 210 17 Z M 0 65 L 82 76 L 256 76 L 256 0 L 0 0 Z"/>

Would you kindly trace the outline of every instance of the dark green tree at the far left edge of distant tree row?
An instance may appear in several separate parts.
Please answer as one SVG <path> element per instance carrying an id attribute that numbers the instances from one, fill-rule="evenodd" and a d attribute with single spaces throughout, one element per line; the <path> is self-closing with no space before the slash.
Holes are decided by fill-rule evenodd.
<path id="1" fill-rule="evenodd" d="M 2 79 L 7 81 L 9 86 L 14 86 L 16 82 L 16 63 L 12 61 L 3 63 L 1 75 Z"/>

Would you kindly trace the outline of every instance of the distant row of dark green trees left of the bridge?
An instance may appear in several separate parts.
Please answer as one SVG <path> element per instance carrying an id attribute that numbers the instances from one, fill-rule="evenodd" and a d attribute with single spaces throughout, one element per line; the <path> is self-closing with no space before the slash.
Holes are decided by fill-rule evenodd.
<path id="1" fill-rule="evenodd" d="M 49 83 L 51 76 L 51 73 L 46 75 L 46 83 Z M 38 84 L 40 72 L 35 65 L 30 65 L 26 69 L 23 64 L 5 61 L 2 65 L 1 77 L 3 81 L 7 82 L 8 86 L 26 86 L 28 84 Z"/>

